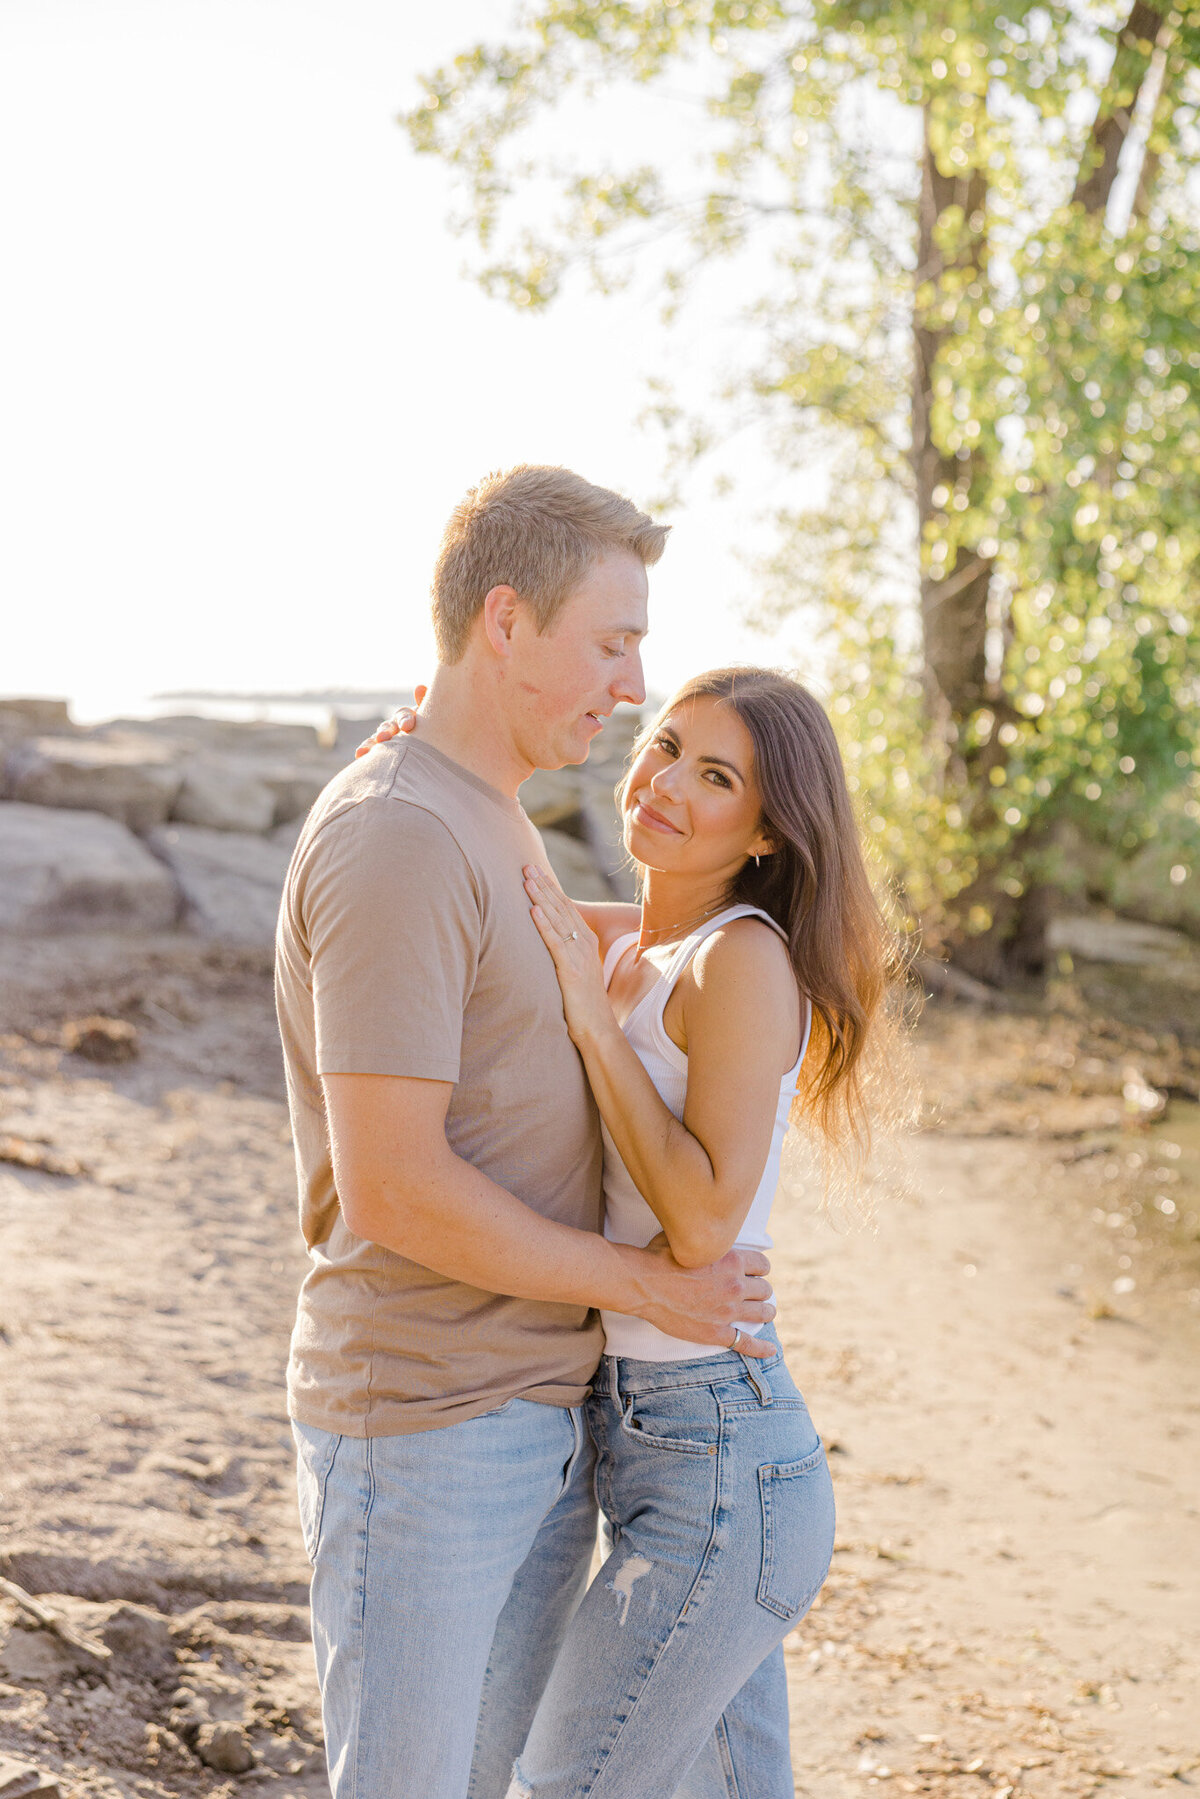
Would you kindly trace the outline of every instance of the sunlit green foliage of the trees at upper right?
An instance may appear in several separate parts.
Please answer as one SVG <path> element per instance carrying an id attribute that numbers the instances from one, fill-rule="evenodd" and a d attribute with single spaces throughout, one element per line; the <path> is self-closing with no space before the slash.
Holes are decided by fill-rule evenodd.
<path id="1" fill-rule="evenodd" d="M 516 304 L 572 268 L 612 284 L 649 230 L 671 308 L 745 259 L 736 401 L 793 466 L 833 462 L 831 500 L 779 518 L 768 610 L 828 633 L 864 820 L 934 937 L 1054 874 L 1056 824 L 1132 856 L 1166 797 L 1200 813 L 1198 59 L 1200 7 L 1141 0 L 540 0 L 407 121 Z M 684 81 L 703 166 L 518 160 L 538 113 L 613 81 Z M 522 218 L 534 180 L 551 227 Z M 945 470 L 925 502 L 923 448 Z M 988 691 L 952 694 L 939 736 L 930 594 L 981 567 Z"/>

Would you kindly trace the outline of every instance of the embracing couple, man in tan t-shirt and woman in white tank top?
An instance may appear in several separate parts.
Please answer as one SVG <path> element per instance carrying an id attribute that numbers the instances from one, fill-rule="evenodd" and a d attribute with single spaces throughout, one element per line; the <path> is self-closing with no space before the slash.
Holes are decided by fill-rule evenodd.
<path id="1" fill-rule="evenodd" d="M 428 698 L 288 874 L 335 1799 L 792 1799 L 783 1637 L 833 1497 L 763 1250 L 790 1119 L 862 1130 L 887 934 L 829 721 L 763 669 L 687 682 L 639 739 L 640 905 L 549 873 L 518 788 L 644 700 L 666 534 L 565 470 L 468 493 Z"/>

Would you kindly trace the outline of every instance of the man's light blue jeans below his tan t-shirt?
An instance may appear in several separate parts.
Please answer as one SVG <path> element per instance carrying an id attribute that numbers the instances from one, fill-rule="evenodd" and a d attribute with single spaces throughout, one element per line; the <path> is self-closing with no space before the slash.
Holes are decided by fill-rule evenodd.
<path id="1" fill-rule="evenodd" d="M 596 1545 L 581 1409 L 291 1428 L 335 1799 L 504 1799 Z"/>

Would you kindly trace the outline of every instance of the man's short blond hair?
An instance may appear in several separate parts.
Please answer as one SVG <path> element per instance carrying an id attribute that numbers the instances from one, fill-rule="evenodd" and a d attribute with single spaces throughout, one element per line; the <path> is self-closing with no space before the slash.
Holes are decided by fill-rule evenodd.
<path id="1" fill-rule="evenodd" d="M 592 563 L 631 550 L 662 556 L 669 525 L 569 468 L 520 464 L 488 475 L 455 506 L 434 568 L 434 635 L 441 662 L 459 662 L 493 586 L 511 586 L 545 631 Z"/>

